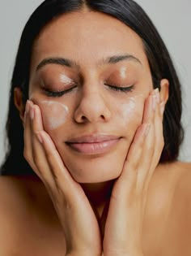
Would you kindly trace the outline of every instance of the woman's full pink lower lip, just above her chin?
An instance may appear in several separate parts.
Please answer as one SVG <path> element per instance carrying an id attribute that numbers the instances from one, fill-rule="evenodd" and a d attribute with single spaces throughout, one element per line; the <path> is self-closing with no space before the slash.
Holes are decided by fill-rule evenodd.
<path id="1" fill-rule="evenodd" d="M 94 143 L 67 143 L 67 145 L 69 145 L 72 150 L 81 154 L 104 154 L 108 150 L 111 150 L 119 140 L 120 139 Z"/>

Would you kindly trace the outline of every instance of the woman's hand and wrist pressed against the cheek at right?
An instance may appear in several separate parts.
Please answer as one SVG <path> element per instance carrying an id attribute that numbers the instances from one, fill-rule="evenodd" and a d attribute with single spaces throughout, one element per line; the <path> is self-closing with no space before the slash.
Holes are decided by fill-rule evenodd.
<path id="1" fill-rule="evenodd" d="M 148 185 L 163 150 L 163 108 L 159 90 L 146 99 L 121 176 L 112 189 L 104 229 L 104 256 L 141 256 Z"/>

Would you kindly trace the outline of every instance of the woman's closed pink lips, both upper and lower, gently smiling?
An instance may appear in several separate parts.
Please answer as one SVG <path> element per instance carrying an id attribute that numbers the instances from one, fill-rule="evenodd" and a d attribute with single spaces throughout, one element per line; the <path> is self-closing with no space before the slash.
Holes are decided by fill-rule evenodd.
<path id="1" fill-rule="evenodd" d="M 71 150 L 81 154 L 104 154 L 112 150 L 120 137 L 112 135 L 83 136 L 66 141 Z"/>

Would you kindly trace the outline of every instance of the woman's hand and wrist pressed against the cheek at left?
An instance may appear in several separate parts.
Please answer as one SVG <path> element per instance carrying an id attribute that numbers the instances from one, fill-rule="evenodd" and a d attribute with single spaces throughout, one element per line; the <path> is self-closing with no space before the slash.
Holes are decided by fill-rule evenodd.
<path id="1" fill-rule="evenodd" d="M 48 190 L 66 237 L 66 255 L 101 255 L 96 215 L 45 132 L 39 106 L 31 101 L 24 117 L 24 157 Z"/>

